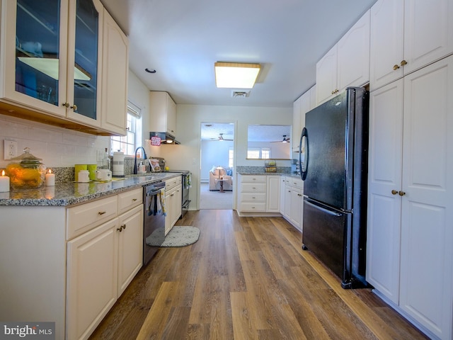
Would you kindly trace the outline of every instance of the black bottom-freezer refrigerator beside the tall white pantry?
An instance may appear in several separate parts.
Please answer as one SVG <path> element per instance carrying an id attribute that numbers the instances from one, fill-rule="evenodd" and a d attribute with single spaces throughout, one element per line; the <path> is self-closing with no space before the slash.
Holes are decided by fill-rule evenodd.
<path id="1" fill-rule="evenodd" d="M 369 92 L 349 87 L 305 115 L 299 142 L 304 181 L 302 248 L 341 279 L 367 286 Z"/>

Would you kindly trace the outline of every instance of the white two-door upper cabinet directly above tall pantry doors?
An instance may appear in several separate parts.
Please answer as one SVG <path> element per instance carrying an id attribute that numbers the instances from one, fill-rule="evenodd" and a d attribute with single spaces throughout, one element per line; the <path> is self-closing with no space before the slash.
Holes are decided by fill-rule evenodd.
<path id="1" fill-rule="evenodd" d="M 379 0 L 371 8 L 370 90 L 453 52 L 449 0 Z"/>

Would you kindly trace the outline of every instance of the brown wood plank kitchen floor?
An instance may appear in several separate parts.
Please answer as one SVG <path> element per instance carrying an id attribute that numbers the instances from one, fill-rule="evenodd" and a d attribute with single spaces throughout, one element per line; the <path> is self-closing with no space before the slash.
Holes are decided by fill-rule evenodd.
<path id="1" fill-rule="evenodd" d="M 302 251 L 282 217 L 189 211 L 191 246 L 161 248 L 90 339 L 428 339 L 369 289 Z"/>

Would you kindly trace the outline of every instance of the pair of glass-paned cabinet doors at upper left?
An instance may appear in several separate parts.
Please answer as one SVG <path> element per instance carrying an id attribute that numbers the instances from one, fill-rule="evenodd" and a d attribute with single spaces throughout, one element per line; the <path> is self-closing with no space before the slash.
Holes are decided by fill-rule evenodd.
<path id="1" fill-rule="evenodd" d="M 103 6 L 1 0 L 1 100 L 99 126 Z"/>

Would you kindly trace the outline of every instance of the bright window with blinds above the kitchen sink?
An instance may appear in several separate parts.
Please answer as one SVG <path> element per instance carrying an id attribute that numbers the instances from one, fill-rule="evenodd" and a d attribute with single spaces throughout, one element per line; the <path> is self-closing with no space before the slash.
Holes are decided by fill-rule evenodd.
<path id="1" fill-rule="evenodd" d="M 134 156 L 137 147 L 142 146 L 142 115 L 140 108 L 127 102 L 127 126 L 125 136 L 110 137 L 111 152 L 124 152 L 127 156 Z"/>

